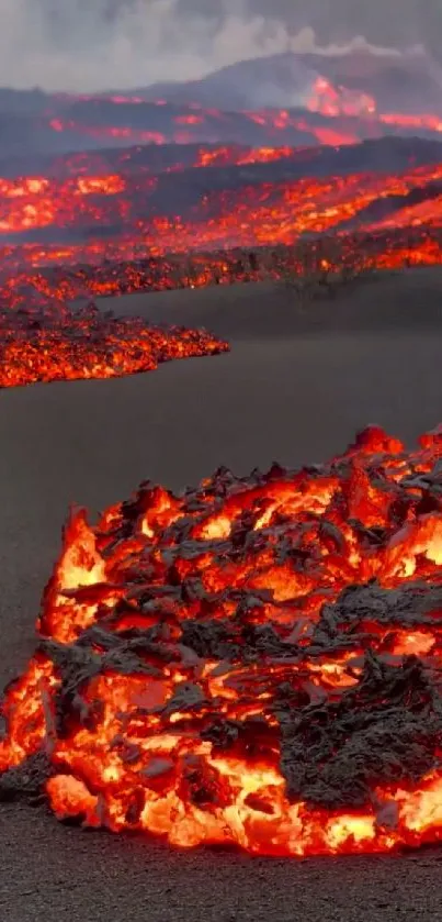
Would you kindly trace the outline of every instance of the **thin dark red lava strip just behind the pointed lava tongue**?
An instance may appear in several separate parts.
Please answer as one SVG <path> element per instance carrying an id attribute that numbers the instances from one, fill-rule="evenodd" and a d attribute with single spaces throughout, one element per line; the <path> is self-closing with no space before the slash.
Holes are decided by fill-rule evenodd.
<path id="1" fill-rule="evenodd" d="M 125 248 L 126 246 L 126 248 Z M 143 258 L 134 256 L 131 241 L 109 245 L 94 244 L 81 248 L 23 247 L 19 265 L 30 268 L 12 270 L 15 251 L 4 254 L 11 266 L 3 274 L 1 299 L 8 310 L 63 303 L 77 299 L 117 296 L 136 291 L 165 291 L 177 288 L 205 288 L 211 285 L 290 279 L 295 276 L 353 277 L 376 269 L 399 269 L 404 266 L 437 266 L 442 264 L 442 233 L 439 229 L 405 226 L 403 230 L 376 230 L 358 235 L 322 237 L 318 243 L 297 246 L 276 246 L 251 253 L 223 249 L 195 253 L 191 256 Z M 33 268 L 44 254 L 54 265 L 44 271 Z M 48 259 L 48 256 L 50 257 Z M 103 262 L 113 256 L 114 264 Z M 126 260 L 124 260 L 126 257 Z M 121 262 L 123 258 L 123 262 Z M 118 262 L 120 260 L 120 262 Z"/>

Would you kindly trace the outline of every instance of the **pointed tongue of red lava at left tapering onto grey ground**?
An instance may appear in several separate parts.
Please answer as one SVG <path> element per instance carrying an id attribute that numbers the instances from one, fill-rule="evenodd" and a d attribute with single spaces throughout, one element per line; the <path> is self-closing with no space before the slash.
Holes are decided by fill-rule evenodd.
<path id="1" fill-rule="evenodd" d="M 0 387 L 121 377 L 228 348 L 205 330 L 151 326 L 141 318 L 104 314 L 93 303 L 72 311 L 63 302 L 34 300 L 32 307 L 0 310 Z"/>

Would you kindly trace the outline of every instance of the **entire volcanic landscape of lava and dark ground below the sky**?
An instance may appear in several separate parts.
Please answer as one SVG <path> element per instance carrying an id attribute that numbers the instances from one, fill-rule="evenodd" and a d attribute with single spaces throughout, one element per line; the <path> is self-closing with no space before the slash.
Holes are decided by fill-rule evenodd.
<path id="1" fill-rule="evenodd" d="M 0 91 L 12 920 L 438 911 L 439 77 Z"/>

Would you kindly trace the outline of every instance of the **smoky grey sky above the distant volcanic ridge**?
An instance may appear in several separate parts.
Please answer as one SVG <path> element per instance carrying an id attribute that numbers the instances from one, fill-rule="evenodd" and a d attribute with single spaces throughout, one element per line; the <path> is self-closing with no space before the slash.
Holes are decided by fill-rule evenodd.
<path id="1" fill-rule="evenodd" d="M 0 0 L 0 85 L 87 92 L 366 42 L 442 47 L 442 0 Z"/>

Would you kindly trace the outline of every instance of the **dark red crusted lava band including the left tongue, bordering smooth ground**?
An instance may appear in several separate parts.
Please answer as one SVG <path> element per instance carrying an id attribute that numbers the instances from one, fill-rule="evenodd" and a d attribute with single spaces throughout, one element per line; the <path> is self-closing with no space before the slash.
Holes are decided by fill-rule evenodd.
<path id="1" fill-rule="evenodd" d="M 417 227 L 329 236 L 299 247 L 3 270 L 0 387 L 121 377 L 229 348 L 205 330 L 152 326 L 140 318 L 100 311 L 93 297 L 303 276 L 306 284 L 315 280 L 318 292 L 333 297 L 347 280 L 375 269 L 441 263 L 442 232 Z M 69 308 L 76 299 L 83 307 Z"/>

